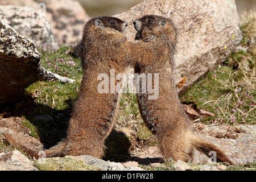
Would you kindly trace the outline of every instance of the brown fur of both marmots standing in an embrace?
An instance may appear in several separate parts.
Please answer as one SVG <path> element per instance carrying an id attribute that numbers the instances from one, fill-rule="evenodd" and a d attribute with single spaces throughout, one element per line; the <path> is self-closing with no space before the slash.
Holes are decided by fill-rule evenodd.
<path id="1" fill-rule="evenodd" d="M 97 75 L 106 73 L 110 76 L 110 69 L 115 69 L 115 74 L 123 73 L 127 62 L 131 61 L 137 73 L 159 73 L 159 98 L 148 100 L 150 94 L 147 93 L 137 94 L 137 100 L 141 116 L 147 127 L 156 134 L 164 158 L 187 162 L 196 149 L 206 155 L 209 151 L 216 151 L 217 161 L 232 164 L 216 146 L 192 133 L 191 123 L 180 104 L 173 78 L 177 34 L 171 20 L 154 15 L 144 16 L 137 20 L 141 27 L 138 29 L 138 24 L 135 26 L 138 30 L 136 39 L 139 40 L 127 42 L 121 34 L 121 27 L 126 25 L 122 20 L 115 19 L 119 26 L 112 27 L 109 24 L 111 18 L 105 16 L 101 19 L 103 26 L 99 24 L 96 28 L 96 19 L 90 20 L 84 27 L 84 75 L 69 121 L 67 138 L 46 150 L 46 156 L 92 155 L 102 158 L 104 140 L 117 116 L 120 94 L 98 93 L 97 85 L 100 81 Z M 148 19 L 154 20 L 154 23 L 148 24 Z M 162 19 L 166 20 L 165 26 L 158 24 L 158 20 Z M 154 80 L 152 82 L 154 85 Z M 9 134 L 5 136 L 11 144 L 17 146 L 16 140 Z M 37 156 L 37 152 L 28 151 L 28 155 Z"/>

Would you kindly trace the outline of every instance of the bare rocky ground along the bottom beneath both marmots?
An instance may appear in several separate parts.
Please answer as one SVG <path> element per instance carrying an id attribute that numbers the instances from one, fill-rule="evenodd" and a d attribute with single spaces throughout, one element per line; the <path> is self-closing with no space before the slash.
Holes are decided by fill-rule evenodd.
<path id="1" fill-rule="evenodd" d="M 42 150 L 43 145 L 40 141 L 34 137 L 31 137 L 30 130 L 27 127 L 20 124 L 23 119 L 19 117 L 9 117 L 2 118 L 0 122 L 0 140 L 5 143 L 5 138 L 3 137 L 3 132 L 9 131 L 19 138 L 19 142 L 25 144 L 27 147 L 34 148 L 35 150 Z M 203 123 L 193 123 L 195 133 L 199 134 L 201 138 L 204 138 L 208 142 L 216 144 L 221 147 L 222 150 L 226 152 L 229 158 L 234 162 L 235 165 L 246 165 L 256 161 L 255 151 L 256 151 L 256 126 L 255 125 L 205 125 Z M 78 156 L 72 157 L 67 156 L 67 160 L 72 158 L 72 160 L 82 160 L 86 164 L 93 166 L 90 170 L 142 170 L 155 168 L 162 165 L 162 155 L 157 146 L 149 146 L 148 144 L 142 144 L 139 140 L 133 140 L 130 149 L 130 161 L 124 162 L 106 162 L 105 160 L 99 160 L 92 158 L 90 156 Z M 138 143 L 136 143 L 138 142 Z M 24 155 L 18 154 L 18 151 L 12 152 L 2 152 L 0 154 L 0 169 L 1 170 L 42 170 L 45 166 L 40 166 L 37 160 L 28 160 Z M 18 155 L 18 157 L 17 157 Z M 52 162 L 52 160 L 54 160 Z M 63 165 L 64 159 L 47 159 L 47 166 L 51 166 L 53 163 L 61 163 Z M 195 159 L 192 164 L 201 165 L 201 170 L 222 170 L 219 165 L 209 166 L 207 163 L 208 158 L 204 155 L 196 152 Z M 69 161 L 72 162 L 72 161 Z M 103 165 L 103 166 L 102 166 Z M 175 166 L 176 165 L 176 166 Z M 174 169 L 185 169 L 184 165 L 187 166 L 186 170 L 192 170 L 187 164 L 179 162 L 174 165 Z M 35 167 L 36 166 L 36 167 Z M 181 166 L 181 168 L 180 168 Z M 168 167 L 166 167 L 168 168 Z M 170 167 L 169 167 L 170 168 Z M 46 168 L 47 170 L 51 170 Z M 66 170 L 69 168 L 55 168 L 53 170 Z M 77 170 L 77 168 L 71 168 L 72 170 Z M 79 168 L 81 169 L 81 168 Z M 88 168 L 82 168 L 87 170 Z M 225 168 L 226 169 L 226 168 Z M 162 170 L 162 168 L 160 168 Z"/>

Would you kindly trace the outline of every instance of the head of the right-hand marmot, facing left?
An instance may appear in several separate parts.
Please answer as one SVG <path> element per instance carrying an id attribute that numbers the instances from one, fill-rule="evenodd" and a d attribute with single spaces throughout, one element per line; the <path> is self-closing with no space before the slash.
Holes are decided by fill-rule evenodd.
<path id="1" fill-rule="evenodd" d="M 135 40 L 149 42 L 155 37 L 168 38 L 176 43 L 177 29 L 171 19 L 157 15 L 145 15 L 133 22 L 137 34 Z"/>

